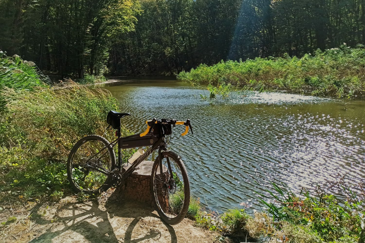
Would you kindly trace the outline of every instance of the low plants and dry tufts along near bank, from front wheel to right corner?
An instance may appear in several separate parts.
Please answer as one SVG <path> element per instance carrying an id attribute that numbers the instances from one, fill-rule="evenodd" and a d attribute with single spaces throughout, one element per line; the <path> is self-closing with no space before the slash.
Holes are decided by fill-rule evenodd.
<path id="1" fill-rule="evenodd" d="M 287 185 L 267 189 L 259 202 L 266 212 L 248 215 L 245 209 L 228 209 L 221 215 L 201 211 L 196 225 L 223 235 L 241 235 L 250 242 L 288 243 L 355 243 L 364 242 L 364 199 L 358 187 L 355 193 L 343 182 L 329 185 L 337 188 L 343 200 L 317 187 L 311 195 L 291 192 Z M 268 201 L 273 201 L 269 203 Z"/>

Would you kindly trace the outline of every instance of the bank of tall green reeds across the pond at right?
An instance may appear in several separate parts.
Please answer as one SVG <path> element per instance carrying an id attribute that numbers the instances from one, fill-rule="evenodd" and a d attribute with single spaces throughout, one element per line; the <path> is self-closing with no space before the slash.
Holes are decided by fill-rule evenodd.
<path id="1" fill-rule="evenodd" d="M 178 79 L 193 85 L 208 84 L 211 97 L 226 97 L 232 88 L 272 91 L 287 90 L 312 95 L 350 98 L 365 95 L 365 47 L 343 45 L 317 50 L 302 58 L 269 57 L 253 60 L 221 61 L 213 66 L 201 64 Z"/>

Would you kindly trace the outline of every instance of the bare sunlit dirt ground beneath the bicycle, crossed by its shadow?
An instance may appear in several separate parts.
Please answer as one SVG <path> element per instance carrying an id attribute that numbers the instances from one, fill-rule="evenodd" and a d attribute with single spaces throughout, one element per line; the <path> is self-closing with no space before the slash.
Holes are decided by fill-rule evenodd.
<path id="1" fill-rule="evenodd" d="M 31 242 L 214 242 L 216 234 L 184 219 L 175 226 L 161 222 L 153 208 L 131 202 L 76 203 L 42 206 L 35 217 Z M 37 213 L 35 215 L 37 215 Z M 34 217 L 33 217 L 34 219 Z"/>

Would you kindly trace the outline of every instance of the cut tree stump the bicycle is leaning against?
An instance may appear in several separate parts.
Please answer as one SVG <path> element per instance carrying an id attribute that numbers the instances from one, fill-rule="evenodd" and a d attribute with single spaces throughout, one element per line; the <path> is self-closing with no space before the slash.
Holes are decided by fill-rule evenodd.
<path id="1" fill-rule="evenodd" d="M 151 187 L 151 173 L 154 161 L 143 161 L 137 168 L 136 171 L 132 173 L 125 181 L 124 184 L 120 185 L 113 192 L 113 200 L 128 200 L 128 201 L 138 201 L 153 207 L 154 196 Z M 125 166 L 124 169 L 128 169 L 131 165 Z M 166 168 L 162 171 L 168 171 Z M 165 175 L 166 174 L 166 175 Z M 157 178 L 161 178 L 160 171 L 157 171 Z M 163 173 L 162 177 L 169 178 L 169 173 Z M 162 178 L 159 179 L 162 181 Z M 161 183 L 161 188 L 158 190 L 158 201 L 164 212 L 168 208 L 168 188 L 164 187 Z"/>

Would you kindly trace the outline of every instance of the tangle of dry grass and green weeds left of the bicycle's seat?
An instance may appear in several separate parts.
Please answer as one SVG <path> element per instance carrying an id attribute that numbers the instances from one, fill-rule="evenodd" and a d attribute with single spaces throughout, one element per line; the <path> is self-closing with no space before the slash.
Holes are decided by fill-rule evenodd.
<path id="1" fill-rule="evenodd" d="M 73 144 L 87 134 L 103 135 L 108 111 L 118 109 L 107 91 L 75 84 L 22 92 L 5 87 L 2 95 L 7 102 L 0 112 L 2 187 L 24 188 L 25 197 L 65 188 Z"/>

